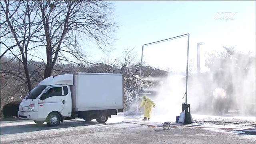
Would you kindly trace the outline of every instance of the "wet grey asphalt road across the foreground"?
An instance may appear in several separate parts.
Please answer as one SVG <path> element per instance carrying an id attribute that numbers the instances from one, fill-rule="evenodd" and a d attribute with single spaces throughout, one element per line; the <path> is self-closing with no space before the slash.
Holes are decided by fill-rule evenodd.
<path id="1" fill-rule="evenodd" d="M 57 127 L 37 126 L 31 120 L 1 122 L 1 144 L 165 144 L 165 143 L 256 143 L 256 130 L 224 130 L 177 126 L 163 130 L 162 122 L 136 120 L 131 124 L 122 118 L 109 118 L 106 124 L 82 119 L 64 121 Z M 132 121 L 126 120 L 126 121 Z M 156 127 L 148 127 L 149 124 Z M 214 126 L 207 125 L 204 126 Z M 241 126 L 238 126 L 241 128 Z M 251 126 L 248 126 L 251 127 Z M 245 127 L 242 127 L 245 128 Z M 255 128 L 255 127 L 254 127 Z"/>

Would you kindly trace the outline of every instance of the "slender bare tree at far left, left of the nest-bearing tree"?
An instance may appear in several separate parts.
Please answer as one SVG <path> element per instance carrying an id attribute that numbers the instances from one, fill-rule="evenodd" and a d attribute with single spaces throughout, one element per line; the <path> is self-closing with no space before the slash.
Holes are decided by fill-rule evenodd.
<path id="1" fill-rule="evenodd" d="M 32 90 L 30 74 L 28 71 L 28 52 L 34 48 L 31 44 L 38 42 L 36 33 L 42 29 L 37 21 L 38 11 L 35 9 L 34 1 L 1 1 L 1 45 L 9 50 L 19 60 L 24 68 L 26 78 L 19 77 L 28 90 Z M 14 42 L 13 42 L 14 40 Z M 18 53 L 12 49 L 18 47 Z M 17 76 L 18 77 L 18 76 Z"/>

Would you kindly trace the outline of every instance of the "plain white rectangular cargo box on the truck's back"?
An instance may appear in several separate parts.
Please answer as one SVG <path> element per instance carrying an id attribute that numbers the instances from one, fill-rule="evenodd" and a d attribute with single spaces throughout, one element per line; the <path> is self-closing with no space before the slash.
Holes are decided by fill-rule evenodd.
<path id="1" fill-rule="evenodd" d="M 72 109 L 77 111 L 124 108 L 124 80 L 122 74 L 74 74 L 71 86 Z"/>

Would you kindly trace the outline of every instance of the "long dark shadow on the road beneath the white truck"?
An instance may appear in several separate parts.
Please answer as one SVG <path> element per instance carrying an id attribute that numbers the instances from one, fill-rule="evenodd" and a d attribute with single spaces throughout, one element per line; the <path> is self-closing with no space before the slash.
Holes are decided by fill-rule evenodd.
<path id="1" fill-rule="evenodd" d="M 30 122 L 31 123 L 31 122 Z M 116 122 L 116 123 L 98 123 L 98 122 L 86 122 L 84 120 L 77 121 L 77 120 L 69 120 L 61 122 L 58 126 L 51 127 L 44 122 L 42 126 L 38 126 L 36 124 L 24 124 L 18 126 L 1 126 L 0 128 L 0 135 L 3 134 L 18 134 L 22 132 L 35 132 L 40 130 L 52 130 L 52 129 L 59 129 L 59 128 L 71 128 L 77 126 L 92 126 L 92 125 L 113 125 L 113 124 L 126 124 L 124 122 Z"/>

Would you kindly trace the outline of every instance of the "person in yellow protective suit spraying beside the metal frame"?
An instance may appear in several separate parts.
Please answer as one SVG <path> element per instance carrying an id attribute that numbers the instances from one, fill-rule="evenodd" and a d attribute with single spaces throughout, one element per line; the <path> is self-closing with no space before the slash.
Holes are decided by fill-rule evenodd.
<path id="1" fill-rule="evenodd" d="M 143 120 L 150 120 L 150 114 L 151 114 L 151 108 L 152 106 L 155 108 L 155 103 L 153 102 L 153 100 L 151 100 L 150 98 L 147 98 L 146 95 L 143 96 L 143 100 L 140 104 L 140 108 L 142 108 L 142 106 L 145 105 L 144 108 L 144 119 Z"/>

